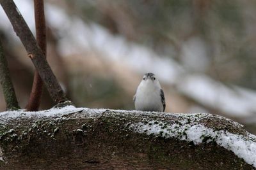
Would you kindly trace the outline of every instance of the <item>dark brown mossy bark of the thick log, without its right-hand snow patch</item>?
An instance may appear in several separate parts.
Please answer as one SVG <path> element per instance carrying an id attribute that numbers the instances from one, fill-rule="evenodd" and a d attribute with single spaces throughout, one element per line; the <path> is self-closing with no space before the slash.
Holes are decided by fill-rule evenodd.
<path id="1" fill-rule="evenodd" d="M 0 169 L 254 169 L 215 142 L 193 145 L 130 128 L 146 120 L 173 124 L 182 119 L 175 114 L 85 108 L 51 117 L 26 114 L 0 115 Z M 246 134 L 217 116 L 188 124 Z"/>

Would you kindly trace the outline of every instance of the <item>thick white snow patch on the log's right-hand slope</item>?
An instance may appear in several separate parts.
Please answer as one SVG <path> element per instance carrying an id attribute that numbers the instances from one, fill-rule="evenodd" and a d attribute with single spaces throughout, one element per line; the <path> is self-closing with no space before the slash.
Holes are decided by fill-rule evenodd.
<path id="1" fill-rule="evenodd" d="M 196 115 L 196 114 L 195 114 Z M 195 115 L 189 114 L 191 122 L 195 122 Z M 200 119 L 200 117 L 198 117 Z M 152 120 L 145 123 L 129 125 L 131 129 L 139 133 L 162 136 L 164 138 L 178 138 L 180 140 L 193 141 L 195 145 L 203 142 L 216 141 L 216 143 L 227 150 L 234 152 L 237 157 L 244 159 L 248 164 L 256 167 L 256 136 L 248 134 L 242 136 L 227 131 L 214 131 L 202 124 L 187 124 L 185 120 L 168 124 L 166 122 Z M 239 125 L 239 124 L 237 124 Z M 205 141 L 203 141 L 205 139 Z"/>

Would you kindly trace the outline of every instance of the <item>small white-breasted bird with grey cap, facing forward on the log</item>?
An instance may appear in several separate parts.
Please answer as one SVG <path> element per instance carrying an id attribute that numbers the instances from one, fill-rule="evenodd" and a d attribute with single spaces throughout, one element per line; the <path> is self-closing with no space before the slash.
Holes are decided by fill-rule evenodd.
<path id="1" fill-rule="evenodd" d="M 136 110 L 161 111 L 165 110 L 164 91 L 155 74 L 145 73 L 133 97 Z"/>

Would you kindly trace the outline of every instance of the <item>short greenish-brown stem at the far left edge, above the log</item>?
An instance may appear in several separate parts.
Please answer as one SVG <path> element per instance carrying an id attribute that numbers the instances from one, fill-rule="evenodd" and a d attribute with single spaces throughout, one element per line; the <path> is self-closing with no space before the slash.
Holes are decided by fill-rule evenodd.
<path id="1" fill-rule="evenodd" d="M 15 90 L 12 84 L 8 63 L 4 56 L 3 46 L 0 41 L 0 83 L 3 87 L 4 99 L 6 101 L 6 110 L 19 109 L 19 103 L 15 95 Z"/>

